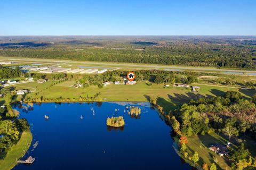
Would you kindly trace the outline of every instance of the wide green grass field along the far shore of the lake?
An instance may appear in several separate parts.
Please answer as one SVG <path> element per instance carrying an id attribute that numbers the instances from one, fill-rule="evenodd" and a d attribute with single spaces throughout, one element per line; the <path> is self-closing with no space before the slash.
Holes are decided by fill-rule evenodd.
<path id="1" fill-rule="evenodd" d="M 197 99 L 200 97 L 213 97 L 217 95 L 223 95 L 228 90 L 235 90 L 242 93 L 245 98 L 251 97 L 256 91 L 247 90 L 241 88 L 229 88 L 229 87 L 217 87 L 200 85 L 201 89 L 198 92 L 192 92 L 190 88 L 177 88 L 169 87 L 164 88 L 163 84 L 152 84 L 148 86 L 145 82 L 138 82 L 136 85 L 115 85 L 110 84 L 101 89 L 98 86 L 90 86 L 88 88 L 74 88 L 75 81 L 65 81 L 57 83 L 54 86 L 50 85 L 57 81 L 48 81 L 46 83 L 23 83 L 14 86 L 18 89 L 30 89 L 35 90 L 28 94 L 28 97 L 39 98 L 52 98 L 59 97 L 77 99 L 79 96 L 93 97 L 98 92 L 101 93 L 103 101 L 148 101 L 149 98 L 156 98 L 159 105 L 162 105 L 167 110 L 173 107 L 180 106 L 186 103 L 190 99 Z"/>

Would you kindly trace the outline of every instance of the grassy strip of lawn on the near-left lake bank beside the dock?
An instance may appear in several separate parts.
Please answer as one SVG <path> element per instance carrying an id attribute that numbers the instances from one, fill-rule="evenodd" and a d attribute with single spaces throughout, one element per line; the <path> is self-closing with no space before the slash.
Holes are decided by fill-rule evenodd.
<path id="1" fill-rule="evenodd" d="M 23 150 L 27 151 L 27 149 L 31 144 L 31 141 L 32 141 L 31 132 L 29 130 L 23 132 L 17 144 L 11 147 L 11 149 L 5 155 L 4 159 L 0 159 L 0 169 L 1 170 L 12 169 L 17 164 L 16 159 L 19 159 L 24 155 Z M 2 158 L 3 155 L 0 154 L 0 157 Z"/>

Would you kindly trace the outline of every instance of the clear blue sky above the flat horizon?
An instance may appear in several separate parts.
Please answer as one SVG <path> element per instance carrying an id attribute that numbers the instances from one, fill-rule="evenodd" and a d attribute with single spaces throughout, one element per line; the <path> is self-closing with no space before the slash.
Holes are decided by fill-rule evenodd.
<path id="1" fill-rule="evenodd" d="M 256 1 L 1 0 L 0 35 L 256 35 Z"/>

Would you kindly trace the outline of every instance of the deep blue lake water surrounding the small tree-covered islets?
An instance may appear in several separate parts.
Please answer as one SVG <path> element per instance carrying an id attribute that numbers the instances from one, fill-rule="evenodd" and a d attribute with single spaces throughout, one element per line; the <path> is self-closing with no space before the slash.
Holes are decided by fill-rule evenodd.
<path id="1" fill-rule="evenodd" d="M 142 109 L 139 117 L 124 112 L 130 105 Z M 149 103 L 45 103 L 23 113 L 16 109 L 20 118 L 27 118 L 33 133 L 32 145 L 22 159 L 36 158 L 32 165 L 18 164 L 16 170 L 192 169 L 175 153 L 170 126 Z M 124 117 L 123 128 L 106 125 L 107 117 L 115 113 Z"/>

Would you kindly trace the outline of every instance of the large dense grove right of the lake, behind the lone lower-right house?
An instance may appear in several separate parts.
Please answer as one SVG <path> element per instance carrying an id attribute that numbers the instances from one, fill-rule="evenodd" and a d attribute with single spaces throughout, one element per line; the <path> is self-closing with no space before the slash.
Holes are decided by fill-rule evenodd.
<path id="1" fill-rule="evenodd" d="M 181 123 L 180 132 L 188 136 L 214 129 L 229 138 L 239 133 L 256 138 L 255 101 L 243 99 L 239 92 L 227 91 L 225 96 L 190 100 L 173 115 Z"/>

